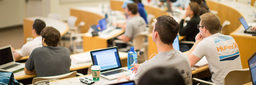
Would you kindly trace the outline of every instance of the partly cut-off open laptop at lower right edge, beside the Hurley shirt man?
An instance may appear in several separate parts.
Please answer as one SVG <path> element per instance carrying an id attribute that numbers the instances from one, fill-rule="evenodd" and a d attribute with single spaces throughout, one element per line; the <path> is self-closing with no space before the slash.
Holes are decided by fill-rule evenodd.
<path id="1" fill-rule="evenodd" d="M 252 85 L 256 85 L 256 52 L 248 59 Z"/>

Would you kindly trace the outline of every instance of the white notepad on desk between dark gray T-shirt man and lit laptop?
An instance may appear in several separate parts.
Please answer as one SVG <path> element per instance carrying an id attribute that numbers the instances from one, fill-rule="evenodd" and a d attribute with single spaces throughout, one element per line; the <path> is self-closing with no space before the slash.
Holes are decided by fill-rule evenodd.
<path id="1" fill-rule="evenodd" d="M 84 62 L 91 62 L 92 58 L 90 56 L 90 52 L 80 53 L 76 55 L 71 55 L 71 61 L 75 64 L 77 63 L 84 63 Z"/>

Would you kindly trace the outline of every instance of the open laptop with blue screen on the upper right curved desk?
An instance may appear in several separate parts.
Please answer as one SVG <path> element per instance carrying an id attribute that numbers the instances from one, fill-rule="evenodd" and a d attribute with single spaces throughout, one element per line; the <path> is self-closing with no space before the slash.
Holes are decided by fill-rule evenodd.
<path id="1" fill-rule="evenodd" d="M 249 34 L 252 34 L 252 33 L 256 33 L 256 30 L 255 31 L 252 31 L 252 27 L 249 27 L 248 24 L 246 23 L 245 21 L 245 18 L 242 16 L 239 18 L 239 21 L 241 22 L 241 24 L 244 26 L 245 28 L 245 31 L 244 33 L 249 33 Z"/>

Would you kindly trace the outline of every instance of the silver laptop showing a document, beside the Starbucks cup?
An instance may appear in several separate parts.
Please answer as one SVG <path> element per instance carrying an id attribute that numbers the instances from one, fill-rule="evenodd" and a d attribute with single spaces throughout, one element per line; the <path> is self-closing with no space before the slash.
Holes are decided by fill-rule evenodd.
<path id="1" fill-rule="evenodd" d="M 108 80 L 117 79 L 122 75 L 131 75 L 132 71 L 122 68 L 117 46 L 90 52 L 93 65 L 100 66 L 100 76 Z"/>

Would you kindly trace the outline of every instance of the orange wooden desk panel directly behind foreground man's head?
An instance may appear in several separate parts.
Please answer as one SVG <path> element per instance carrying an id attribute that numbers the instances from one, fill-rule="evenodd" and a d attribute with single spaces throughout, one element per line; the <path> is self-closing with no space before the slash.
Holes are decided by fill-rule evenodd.
<path id="1" fill-rule="evenodd" d="M 179 36 L 179 41 L 183 40 L 184 38 L 184 36 Z M 150 33 L 148 34 L 148 59 L 153 53 L 158 54 L 157 44 L 152 41 L 152 33 Z"/>

